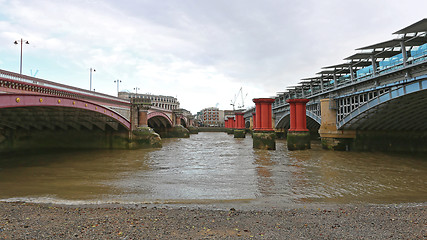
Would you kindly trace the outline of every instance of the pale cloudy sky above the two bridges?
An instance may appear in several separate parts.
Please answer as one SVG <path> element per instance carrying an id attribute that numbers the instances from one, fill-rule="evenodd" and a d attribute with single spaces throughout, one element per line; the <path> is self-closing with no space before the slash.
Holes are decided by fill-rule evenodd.
<path id="1" fill-rule="evenodd" d="M 0 0 L 0 69 L 176 96 L 193 113 L 275 96 L 427 17 L 425 0 Z M 241 101 L 241 98 L 239 102 Z"/>

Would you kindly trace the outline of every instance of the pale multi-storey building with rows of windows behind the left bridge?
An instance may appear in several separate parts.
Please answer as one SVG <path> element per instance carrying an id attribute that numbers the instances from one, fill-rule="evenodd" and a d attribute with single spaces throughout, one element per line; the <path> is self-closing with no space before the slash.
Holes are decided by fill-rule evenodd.
<path id="1" fill-rule="evenodd" d="M 178 99 L 171 96 L 152 95 L 152 94 L 140 94 L 130 92 L 119 92 L 119 98 L 130 99 L 130 98 L 143 98 L 151 101 L 151 106 L 158 107 L 166 110 L 179 109 Z"/>

